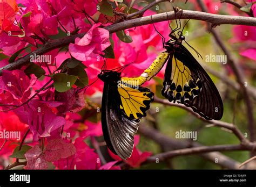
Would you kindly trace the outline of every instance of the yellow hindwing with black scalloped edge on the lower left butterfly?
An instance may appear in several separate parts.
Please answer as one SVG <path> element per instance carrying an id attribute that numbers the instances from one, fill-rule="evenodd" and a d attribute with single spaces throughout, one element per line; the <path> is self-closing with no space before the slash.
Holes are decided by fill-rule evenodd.
<path id="1" fill-rule="evenodd" d="M 138 119 L 146 115 L 145 111 L 149 109 L 152 100 L 152 92 L 140 91 L 123 84 L 119 84 L 118 92 L 122 102 L 120 109 L 124 110 L 126 116 Z"/>

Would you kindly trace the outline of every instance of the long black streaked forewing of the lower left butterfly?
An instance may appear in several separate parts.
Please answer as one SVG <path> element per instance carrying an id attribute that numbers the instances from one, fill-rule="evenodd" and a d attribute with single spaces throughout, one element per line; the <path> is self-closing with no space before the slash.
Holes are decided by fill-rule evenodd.
<path id="1" fill-rule="evenodd" d="M 131 156 L 134 134 L 139 127 L 139 120 L 127 117 L 120 110 L 120 95 L 117 84 L 104 83 L 102 97 L 102 128 L 107 147 L 122 159 Z"/>

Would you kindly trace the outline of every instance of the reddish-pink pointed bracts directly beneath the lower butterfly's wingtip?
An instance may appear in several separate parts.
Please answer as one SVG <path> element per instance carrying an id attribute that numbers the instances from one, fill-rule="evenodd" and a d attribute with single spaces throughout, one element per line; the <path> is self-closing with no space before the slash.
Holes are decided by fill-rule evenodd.
<path id="1" fill-rule="evenodd" d="M 124 160 L 125 163 L 129 164 L 129 166 L 131 166 L 133 168 L 139 168 L 140 164 L 145 162 L 147 160 L 147 158 L 152 155 L 151 152 L 140 152 L 140 150 L 138 150 L 136 148 L 138 143 L 139 143 L 139 135 L 135 135 L 134 136 L 134 147 L 133 147 L 132 155 L 131 155 L 130 158 Z M 122 161 L 122 159 L 118 155 L 113 154 L 110 150 L 109 150 L 109 153 L 110 153 L 110 156 L 114 160 Z"/>

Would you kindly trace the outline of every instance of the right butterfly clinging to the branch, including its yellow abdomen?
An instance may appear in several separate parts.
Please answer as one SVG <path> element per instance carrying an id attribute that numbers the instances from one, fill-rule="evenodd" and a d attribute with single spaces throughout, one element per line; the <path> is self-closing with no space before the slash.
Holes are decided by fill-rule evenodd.
<path id="1" fill-rule="evenodd" d="M 220 120 L 223 116 L 223 102 L 220 94 L 210 76 L 182 45 L 182 42 L 185 41 L 183 30 L 178 32 L 178 38 L 173 34 L 180 28 L 181 26 L 178 27 L 177 24 L 177 27 L 169 34 L 171 39 L 167 42 L 156 30 L 163 38 L 163 46 L 166 51 L 162 52 L 139 77 L 123 77 L 122 80 L 123 82 L 137 81 L 141 85 L 155 76 L 167 62 L 161 94 L 170 102 L 191 107 L 194 112 L 205 119 Z M 194 51 L 196 50 L 194 49 Z M 197 52 L 197 54 L 199 53 Z"/>

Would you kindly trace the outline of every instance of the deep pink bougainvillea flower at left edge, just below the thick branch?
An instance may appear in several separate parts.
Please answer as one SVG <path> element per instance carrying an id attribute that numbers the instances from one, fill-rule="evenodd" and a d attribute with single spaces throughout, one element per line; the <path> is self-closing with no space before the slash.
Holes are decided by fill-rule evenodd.
<path id="1" fill-rule="evenodd" d="M 30 88 L 35 84 L 35 82 L 36 77 L 31 75 L 31 79 L 29 79 L 29 77 L 25 75 L 24 71 L 3 70 L 3 75 L 0 77 L 0 90 L 10 93 L 13 100 L 8 100 L 9 103 L 21 103 L 28 99 L 30 96 Z M 2 98 L 2 102 L 5 99 L 7 98 Z"/>

